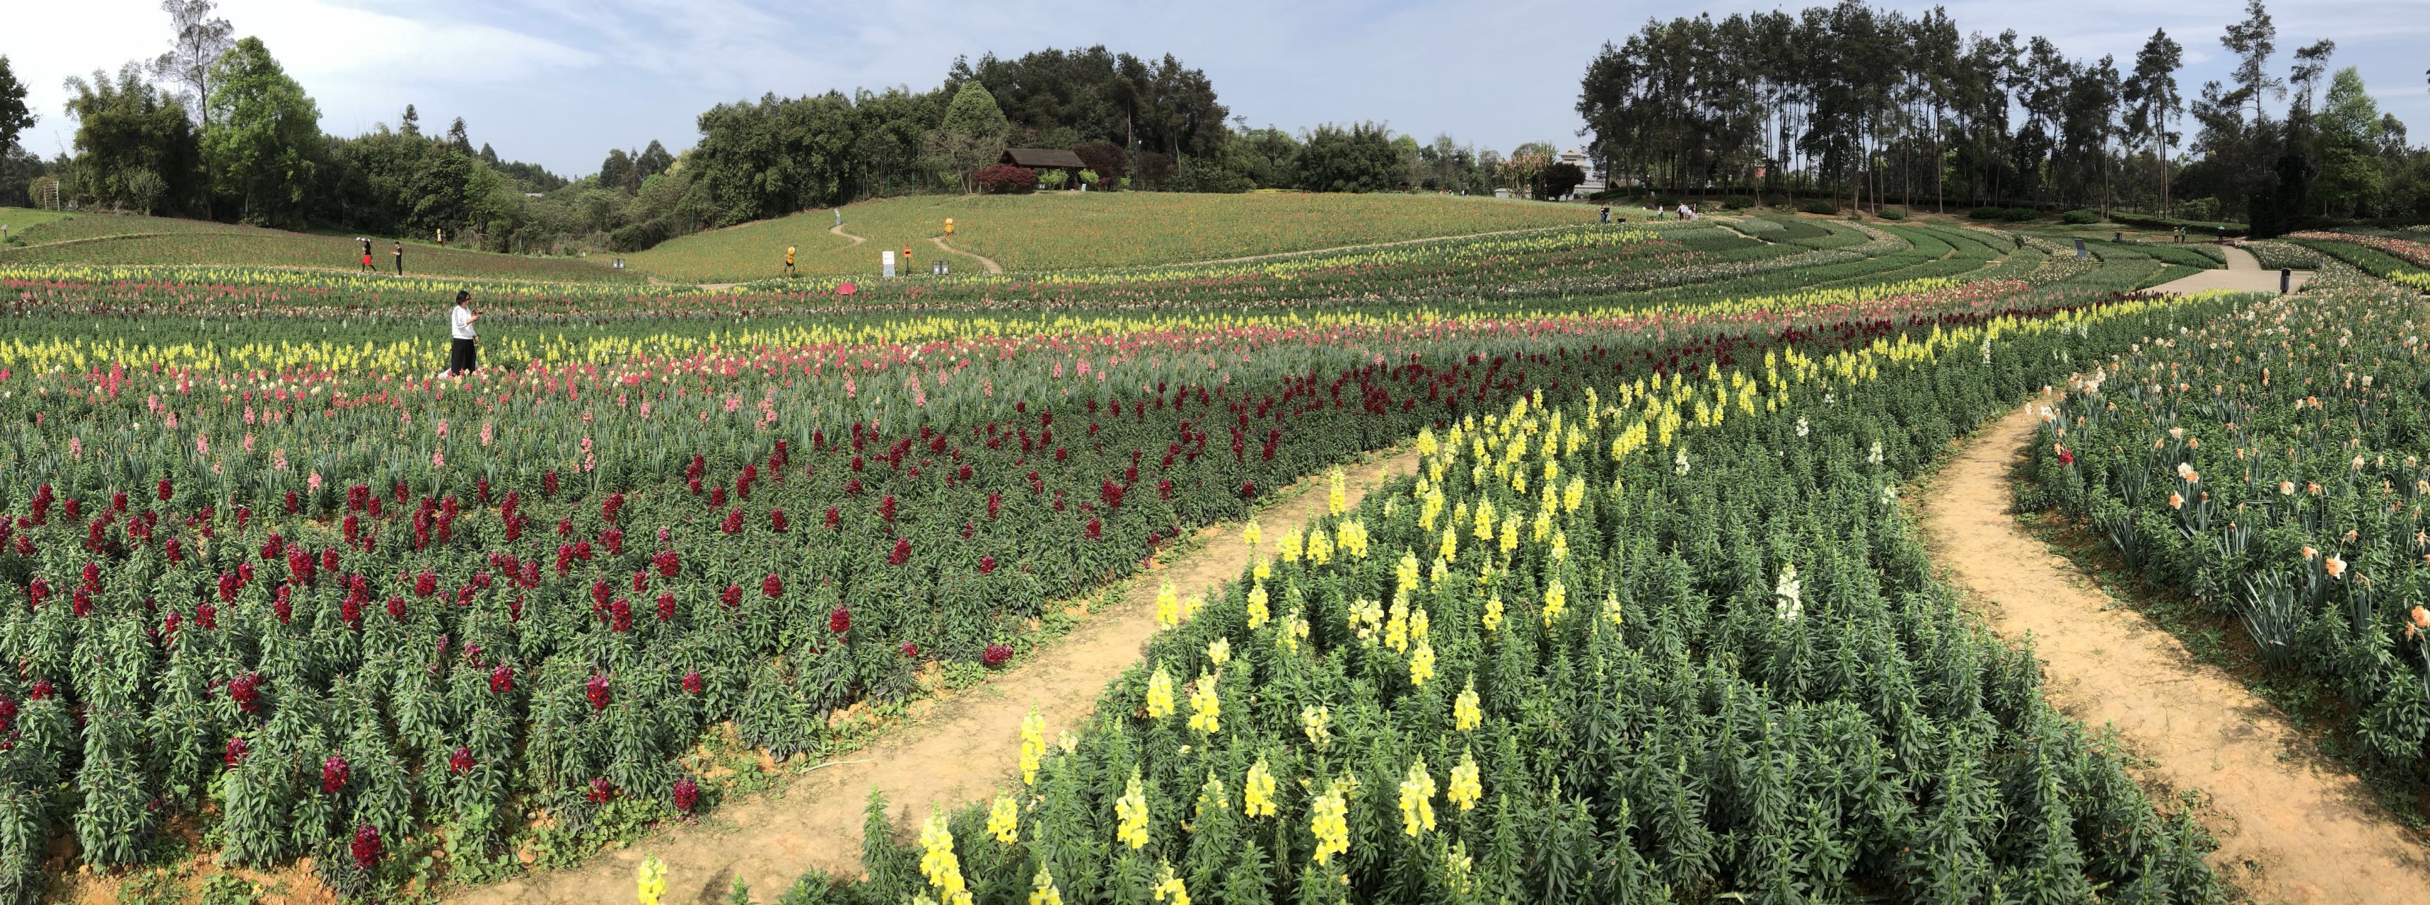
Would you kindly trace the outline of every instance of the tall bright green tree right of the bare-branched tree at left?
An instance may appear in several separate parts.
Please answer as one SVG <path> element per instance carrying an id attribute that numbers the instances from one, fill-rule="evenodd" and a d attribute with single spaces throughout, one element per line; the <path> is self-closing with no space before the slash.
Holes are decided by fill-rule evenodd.
<path id="1" fill-rule="evenodd" d="M 245 221 L 284 218 L 304 201 L 321 160 L 321 107 L 253 36 L 221 53 L 209 78 L 202 158 L 211 189 L 236 197 Z"/>

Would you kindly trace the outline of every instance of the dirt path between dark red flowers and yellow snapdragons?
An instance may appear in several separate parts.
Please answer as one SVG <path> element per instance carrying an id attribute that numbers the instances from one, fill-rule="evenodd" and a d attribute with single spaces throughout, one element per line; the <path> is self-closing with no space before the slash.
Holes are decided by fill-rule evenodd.
<path id="1" fill-rule="evenodd" d="M 1417 471 L 1417 449 L 1344 468 L 1351 507 L 1388 478 Z M 1302 480 L 1281 502 L 1259 512 L 1268 536 L 1324 512 L 1324 478 Z M 741 876 L 758 900 L 775 900 L 807 869 L 860 876 L 860 827 L 870 789 L 887 796 L 897 832 L 928 808 L 960 808 L 1018 784 L 1021 721 L 1038 708 L 1047 738 L 1079 728 L 1106 684 L 1140 660 L 1157 633 L 1154 599 L 1164 582 L 1183 597 L 1213 592 L 1249 565 L 1239 524 L 1198 531 L 1198 548 L 1137 575 L 1123 602 L 1091 614 L 1072 636 L 1040 648 L 1025 665 L 994 682 L 950 694 L 916 725 L 897 728 L 833 767 L 792 776 L 782 796 L 736 801 L 717 813 L 656 830 L 651 837 L 603 852 L 581 869 L 537 873 L 457 895 L 457 903 L 590 905 L 629 900 L 642 854 L 666 861 L 666 903 L 724 903 Z"/>

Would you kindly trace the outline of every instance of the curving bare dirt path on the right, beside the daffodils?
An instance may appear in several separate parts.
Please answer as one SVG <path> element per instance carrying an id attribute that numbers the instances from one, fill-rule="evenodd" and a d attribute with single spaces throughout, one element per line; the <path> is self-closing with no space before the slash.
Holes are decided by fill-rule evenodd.
<path id="1" fill-rule="evenodd" d="M 2114 725 L 2146 779 L 2209 793 L 2211 866 L 2253 900 L 2420 903 L 2423 849 L 2362 781 L 2323 767 L 2277 708 L 2194 662 L 2010 517 L 2010 468 L 2036 437 L 2041 403 L 1988 427 L 1932 478 L 1922 510 L 1934 560 L 1993 628 L 2031 636 L 2053 706 Z"/>

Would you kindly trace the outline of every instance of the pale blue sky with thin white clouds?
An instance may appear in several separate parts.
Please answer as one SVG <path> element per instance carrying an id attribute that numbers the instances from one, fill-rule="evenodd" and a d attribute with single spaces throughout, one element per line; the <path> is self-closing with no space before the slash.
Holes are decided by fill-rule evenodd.
<path id="1" fill-rule="evenodd" d="M 1788 10 L 1808 2 L 1786 5 Z M 1932 2 L 1876 0 L 1908 12 Z M 1961 32 L 2048 36 L 2070 58 L 2134 53 L 2165 27 L 2187 49 L 2187 97 L 2226 78 L 2219 46 L 2243 0 L 1946 0 Z M 608 148 L 690 148 L 719 102 L 829 87 L 936 87 L 955 56 L 1021 56 L 1106 44 L 1203 68 L 1249 126 L 1300 131 L 1385 121 L 1395 133 L 1509 150 L 1582 146 L 1577 80 L 1604 41 L 1650 17 L 1764 10 L 1762 2 L 1652 0 L 221 0 L 238 36 L 260 36 L 321 104 L 321 129 L 352 136 L 416 104 L 425 131 L 462 116 L 498 155 L 581 177 Z M 2430 2 L 2272 0 L 2274 68 L 2335 39 L 2381 109 L 2430 141 Z M 0 56 L 41 116 L 22 143 L 73 150 L 63 80 L 168 49 L 158 0 L 0 0 Z M 2189 131 L 2192 126 L 2187 126 Z"/>

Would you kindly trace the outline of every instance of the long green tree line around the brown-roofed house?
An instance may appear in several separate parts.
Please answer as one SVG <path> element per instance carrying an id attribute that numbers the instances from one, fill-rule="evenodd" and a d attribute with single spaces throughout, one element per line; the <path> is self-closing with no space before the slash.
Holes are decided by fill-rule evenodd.
<path id="1" fill-rule="evenodd" d="M 1106 46 L 957 58 L 931 90 L 829 90 L 717 104 L 693 148 L 617 148 L 559 177 L 501 160 L 464 119 L 326 136 L 318 104 L 211 0 L 163 0 L 170 49 L 68 80 L 75 153 L 15 143 L 36 114 L 0 58 L 0 204 L 204 216 L 471 243 L 508 252 L 639 250 L 673 235 L 870 197 L 979 189 L 1004 148 L 1072 148 L 1091 189 L 1560 194 L 1553 146 L 1511 155 L 1385 124 L 1251 129 L 1174 56 Z M 1572 167 L 1575 170 L 1575 167 Z"/>

